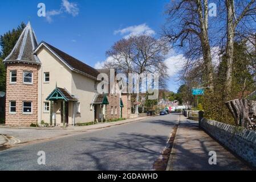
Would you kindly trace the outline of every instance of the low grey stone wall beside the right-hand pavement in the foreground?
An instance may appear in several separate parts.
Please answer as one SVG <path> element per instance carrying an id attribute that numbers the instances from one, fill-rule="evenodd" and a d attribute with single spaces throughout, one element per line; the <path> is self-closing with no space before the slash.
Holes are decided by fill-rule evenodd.
<path id="1" fill-rule="evenodd" d="M 229 150 L 256 167 L 256 132 L 203 118 L 200 126 Z M 218 154 L 217 154 L 218 155 Z"/>

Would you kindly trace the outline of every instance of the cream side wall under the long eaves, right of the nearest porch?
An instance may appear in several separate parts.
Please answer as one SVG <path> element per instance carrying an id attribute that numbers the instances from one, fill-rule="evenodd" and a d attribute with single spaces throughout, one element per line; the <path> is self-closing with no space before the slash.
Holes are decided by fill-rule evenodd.
<path id="1" fill-rule="evenodd" d="M 92 78 L 82 74 L 72 73 L 72 94 L 80 102 L 80 113 L 75 110 L 75 123 L 86 123 L 94 121 L 94 109 L 91 108 L 92 100 L 97 93 L 95 90 L 95 81 Z"/>

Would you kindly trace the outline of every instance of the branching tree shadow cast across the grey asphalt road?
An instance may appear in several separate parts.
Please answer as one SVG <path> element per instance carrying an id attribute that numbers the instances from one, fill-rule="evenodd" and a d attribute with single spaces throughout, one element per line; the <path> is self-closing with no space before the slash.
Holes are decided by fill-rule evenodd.
<path id="1" fill-rule="evenodd" d="M 161 155 L 158 148 L 163 146 L 163 150 L 168 138 L 161 135 L 120 133 L 111 140 L 82 138 L 79 141 L 94 145 L 87 148 L 86 152 L 80 152 L 74 159 L 90 157 L 90 162 L 95 164 L 97 170 L 147 170 L 153 168 L 153 162 Z"/>

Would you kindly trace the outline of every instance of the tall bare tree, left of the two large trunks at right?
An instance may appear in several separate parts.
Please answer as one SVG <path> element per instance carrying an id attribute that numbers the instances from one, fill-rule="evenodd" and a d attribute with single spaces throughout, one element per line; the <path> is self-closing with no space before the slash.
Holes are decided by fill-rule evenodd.
<path id="1" fill-rule="evenodd" d="M 189 64 L 203 57 L 204 81 L 212 87 L 213 65 L 208 36 L 208 12 L 208 0 L 170 2 L 166 11 L 169 18 L 164 28 L 164 36 L 176 46 L 186 49 Z"/>

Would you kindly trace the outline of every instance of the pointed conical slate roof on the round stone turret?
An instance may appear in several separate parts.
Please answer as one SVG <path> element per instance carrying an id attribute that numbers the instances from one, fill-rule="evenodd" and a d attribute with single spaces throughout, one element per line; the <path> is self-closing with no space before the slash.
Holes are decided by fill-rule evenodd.
<path id="1" fill-rule="evenodd" d="M 15 44 L 10 55 L 3 60 L 4 63 L 35 63 L 40 64 L 40 60 L 34 54 L 34 49 L 38 46 L 35 32 L 31 27 L 30 22 L 24 28 L 21 36 Z"/>

